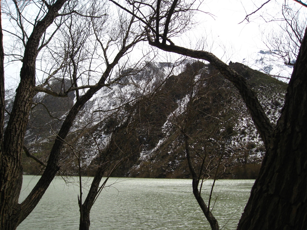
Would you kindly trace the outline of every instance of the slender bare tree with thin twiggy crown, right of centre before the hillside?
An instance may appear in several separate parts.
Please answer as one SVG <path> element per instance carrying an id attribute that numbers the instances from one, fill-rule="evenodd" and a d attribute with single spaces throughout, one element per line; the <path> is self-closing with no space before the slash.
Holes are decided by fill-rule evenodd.
<path id="1" fill-rule="evenodd" d="M 185 71 L 177 79 L 173 88 L 180 87 L 183 91 L 180 95 L 183 96 L 168 119 L 178 131 L 176 140 L 181 143 L 186 155 L 196 201 L 211 228 L 219 229 L 218 221 L 212 214 L 215 204 L 212 194 L 216 180 L 229 164 L 226 159 L 231 159 L 225 147 L 234 132 L 230 126 L 235 114 L 230 108 L 233 92 L 229 90 L 230 83 L 219 75 L 219 71 L 199 61 L 187 63 Z M 213 183 L 208 202 L 205 202 L 201 192 L 204 191 L 204 181 L 209 178 L 213 179 Z"/>

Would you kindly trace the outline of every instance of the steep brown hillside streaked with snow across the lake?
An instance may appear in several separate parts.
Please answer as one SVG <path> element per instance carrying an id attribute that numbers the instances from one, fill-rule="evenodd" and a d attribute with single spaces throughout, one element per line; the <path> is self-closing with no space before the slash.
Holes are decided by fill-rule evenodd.
<path id="1" fill-rule="evenodd" d="M 248 79 L 271 122 L 276 123 L 287 85 L 243 64 L 230 65 Z M 34 99 L 38 104 L 25 140 L 42 161 L 48 157 L 74 94 L 64 99 L 49 97 Z M 10 100 L 6 103 L 9 108 Z M 106 166 L 106 174 L 120 162 L 113 176 L 189 178 L 188 146 L 194 166 L 206 167 L 206 176 L 255 178 L 265 151 L 237 90 L 211 65 L 201 62 L 150 64 L 112 89 L 101 90 L 83 108 L 66 142 L 59 173 L 78 173 L 77 151 L 82 173 L 89 176 L 105 155 L 110 162 L 114 160 Z M 23 159 L 25 173 L 40 172 L 35 161 Z"/>

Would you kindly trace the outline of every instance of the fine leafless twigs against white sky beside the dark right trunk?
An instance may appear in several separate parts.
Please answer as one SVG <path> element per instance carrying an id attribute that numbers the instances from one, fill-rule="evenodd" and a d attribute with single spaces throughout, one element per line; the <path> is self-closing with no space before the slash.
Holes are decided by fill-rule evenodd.
<path id="1" fill-rule="evenodd" d="M 268 75 L 288 81 L 307 26 L 306 7 L 301 1 L 275 1 L 274 8 L 281 10 L 272 15 L 270 9 L 265 7 L 269 2 L 274 1 L 263 3 L 243 20 L 250 22 L 257 19 L 259 23 L 265 22 L 259 27 L 263 28 L 262 41 L 266 48 L 260 50 L 250 64 Z"/>

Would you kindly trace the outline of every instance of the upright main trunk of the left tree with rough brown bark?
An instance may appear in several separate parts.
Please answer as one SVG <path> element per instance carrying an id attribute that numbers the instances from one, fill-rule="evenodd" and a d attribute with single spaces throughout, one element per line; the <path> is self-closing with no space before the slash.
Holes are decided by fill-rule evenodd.
<path id="1" fill-rule="evenodd" d="M 25 215 L 24 210 L 21 209 L 21 205 L 18 204 L 22 185 L 21 154 L 32 99 L 35 95 L 35 62 L 38 54 L 37 48 L 41 36 L 49 25 L 52 24 L 58 11 L 66 1 L 67 0 L 57 0 L 52 6 L 49 6 L 48 13 L 34 26 L 33 32 L 29 36 L 25 47 L 23 64 L 20 72 L 20 84 L 16 90 L 13 109 L 2 142 L 3 148 L 0 168 L 0 228 L 3 230 L 15 229 L 20 223 L 21 216 Z M 3 46 L 1 46 L 1 49 L 3 50 Z M 4 94 L 1 94 L 1 97 L 1 100 L 4 100 Z"/>

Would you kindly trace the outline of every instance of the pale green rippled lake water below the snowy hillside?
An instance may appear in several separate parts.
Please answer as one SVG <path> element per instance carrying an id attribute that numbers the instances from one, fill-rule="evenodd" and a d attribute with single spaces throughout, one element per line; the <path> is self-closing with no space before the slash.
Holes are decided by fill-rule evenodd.
<path id="1" fill-rule="evenodd" d="M 23 177 L 19 201 L 25 199 L 38 179 L 38 176 Z M 79 229 L 79 187 L 74 183 L 77 180 L 73 177 L 67 183 L 62 178 L 54 179 L 17 230 Z M 83 180 L 89 185 L 92 178 L 83 177 Z M 211 183 L 207 181 L 202 190 L 205 201 L 208 201 Z M 220 228 L 226 223 L 223 229 L 236 228 L 253 184 L 254 180 L 216 182 L 212 213 Z M 107 185 L 110 187 L 102 191 L 91 209 L 90 229 L 211 229 L 192 194 L 192 180 L 110 178 Z M 87 190 L 84 189 L 83 194 L 85 199 Z"/>

